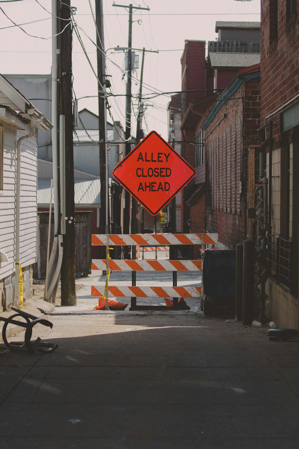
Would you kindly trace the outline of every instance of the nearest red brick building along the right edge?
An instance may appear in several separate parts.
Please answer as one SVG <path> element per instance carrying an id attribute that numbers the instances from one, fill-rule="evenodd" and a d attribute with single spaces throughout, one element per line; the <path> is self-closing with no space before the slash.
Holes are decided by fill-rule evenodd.
<path id="1" fill-rule="evenodd" d="M 298 326 L 299 2 L 261 1 L 261 126 L 269 178 L 269 318 Z"/>

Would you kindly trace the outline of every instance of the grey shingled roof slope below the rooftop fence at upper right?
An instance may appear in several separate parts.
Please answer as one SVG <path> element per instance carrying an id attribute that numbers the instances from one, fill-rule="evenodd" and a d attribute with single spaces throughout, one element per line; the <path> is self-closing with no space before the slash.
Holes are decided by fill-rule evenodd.
<path id="1" fill-rule="evenodd" d="M 212 69 L 250 67 L 260 63 L 260 53 L 209 53 Z"/>

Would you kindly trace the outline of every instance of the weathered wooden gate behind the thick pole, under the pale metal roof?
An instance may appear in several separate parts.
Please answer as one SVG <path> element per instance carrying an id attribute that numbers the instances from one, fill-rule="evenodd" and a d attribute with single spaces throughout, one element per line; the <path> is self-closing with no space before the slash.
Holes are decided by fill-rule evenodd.
<path id="1" fill-rule="evenodd" d="M 49 212 L 38 212 L 38 262 L 37 276 L 39 279 L 46 277 L 47 265 L 47 245 L 49 229 Z M 91 212 L 75 212 L 76 220 L 76 275 L 82 276 L 91 273 Z M 52 248 L 54 238 L 54 213 L 51 219 L 51 243 Z"/>

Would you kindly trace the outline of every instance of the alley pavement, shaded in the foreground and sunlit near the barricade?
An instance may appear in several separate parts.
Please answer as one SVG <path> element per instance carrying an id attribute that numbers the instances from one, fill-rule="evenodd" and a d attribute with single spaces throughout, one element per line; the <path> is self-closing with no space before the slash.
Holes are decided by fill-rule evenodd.
<path id="1" fill-rule="evenodd" d="M 137 273 L 137 283 L 153 280 Z M 55 352 L 0 355 L 1 449 L 298 448 L 298 342 L 204 317 L 199 299 L 184 311 L 95 311 L 91 284 L 105 277 L 77 282 L 77 306 L 48 310 L 52 330 L 34 327 L 32 340 Z"/>

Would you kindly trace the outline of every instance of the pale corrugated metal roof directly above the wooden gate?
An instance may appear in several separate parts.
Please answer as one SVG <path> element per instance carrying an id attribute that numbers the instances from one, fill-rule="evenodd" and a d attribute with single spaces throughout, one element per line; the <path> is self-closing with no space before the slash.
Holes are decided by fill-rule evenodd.
<path id="1" fill-rule="evenodd" d="M 75 179 L 75 205 L 100 205 L 100 179 Z M 48 205 L 50 201 L 51 179 L 37 180 L 37 204 Z"/>

